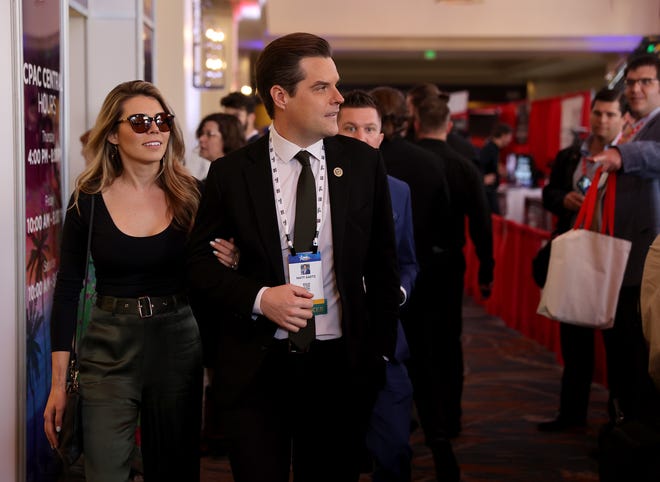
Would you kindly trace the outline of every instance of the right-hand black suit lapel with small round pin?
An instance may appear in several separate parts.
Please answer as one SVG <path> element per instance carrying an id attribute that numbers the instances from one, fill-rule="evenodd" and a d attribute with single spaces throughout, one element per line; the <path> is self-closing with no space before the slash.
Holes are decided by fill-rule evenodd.
<path id="1" fill-rule="evenodd" d="M 342 147 L 336 139 L 330 137 L 324 141 L 327 165 L 328 191 L 330 195 L 330 213 L 332 221 L 332 244 L 335 266 L 339 265 L 343 252 L 346 232 L 346 211 L 348 209 L 349 181 L 351 166 L 343 156 Z"/>

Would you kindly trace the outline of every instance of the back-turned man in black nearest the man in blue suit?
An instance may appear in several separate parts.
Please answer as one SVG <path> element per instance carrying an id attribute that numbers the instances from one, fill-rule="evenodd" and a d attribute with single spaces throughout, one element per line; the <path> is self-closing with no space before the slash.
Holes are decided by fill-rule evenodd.
<path id="1" fill-rule="evenodd" d="M 392 87 L 377 87 L 370 94 L 382 119 L 384 140 L 380 149 L 387 173 L 410 186 L 419 275 L 410 301 L 401 311 L 401 321 L 410 344 L 408 367 L 415 405 L 438 480 L 458 481 L 460 469 L 450 441 L 458 427 L 448 428 L 438 416 L 440 392 L 434 391 L 438 387 L 435 354 L 440 346 L 436 346 L 436 340 L 446 336 L 446 306 L 438 296 L 443 295 L 450 247 L 447 179 L 433 153 L 403 138 L 408 121 L 403 93 Z"/>

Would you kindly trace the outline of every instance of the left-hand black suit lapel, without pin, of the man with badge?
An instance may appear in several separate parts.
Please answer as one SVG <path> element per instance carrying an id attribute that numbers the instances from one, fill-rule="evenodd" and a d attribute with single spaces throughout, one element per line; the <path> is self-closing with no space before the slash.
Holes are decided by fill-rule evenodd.
<path id="1" fill-rule="evenodd" d="M 277 273 L 278 281 L 284 284 L 280 232 L 268 155 L 268 136 L 250 144 L 247 154 L 248 160 L 244 168 L 245 185 L 257 219 L 256 228 L 271 268 Z"/>

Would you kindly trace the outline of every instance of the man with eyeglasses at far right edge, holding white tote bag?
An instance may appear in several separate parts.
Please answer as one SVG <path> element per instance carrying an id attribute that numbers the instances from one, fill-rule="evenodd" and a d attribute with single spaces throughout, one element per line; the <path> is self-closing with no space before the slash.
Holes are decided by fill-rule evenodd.
<path id="1" fill-rule="evenodd" d="M 644 419 L 658 411 L 658 395 L 648 374 L 639 312 L 644 260 L 660 233 L 660 59 L 632 57 L 625 70 L 625 97 L 634 122 L 627 137 L 591 158 L 616 172 L 614 236 L 632 242 L 619 292 L 614 327 L 603 331 L 610 388 L 610 419 Z"/>

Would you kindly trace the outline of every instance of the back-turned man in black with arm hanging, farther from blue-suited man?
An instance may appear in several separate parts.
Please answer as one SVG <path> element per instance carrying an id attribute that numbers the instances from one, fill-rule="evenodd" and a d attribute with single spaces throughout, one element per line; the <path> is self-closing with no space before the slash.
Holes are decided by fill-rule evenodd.
<path id="1" fill-rule="evenodd" d="M 422 101 L 415 114 L 415 133 L 419 146 L 436 156 L 447 175 L 450 195 L 450 219 L 446 229 L 449 243 L 440 261 L 442 273 L 436 303 L 442 306 L 442 323 L 429 343 L 433 343 L 428 368 L 431 393 L 438 427 L 455 436 L 461 427 L 463 393 L 462 300 L 465 276 L 465 221 L 479 258 L 479 285 L 489 296 L 493 281 L 493 233 L 490 210 L 481 176 L 474 164 L 453 151 L 445 142 L 451 129 L 447 103 L 437 97 Z M 413 380 L 414 383 L 414 380 Z"/>

